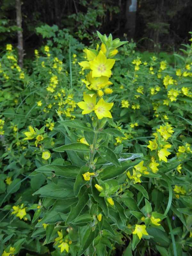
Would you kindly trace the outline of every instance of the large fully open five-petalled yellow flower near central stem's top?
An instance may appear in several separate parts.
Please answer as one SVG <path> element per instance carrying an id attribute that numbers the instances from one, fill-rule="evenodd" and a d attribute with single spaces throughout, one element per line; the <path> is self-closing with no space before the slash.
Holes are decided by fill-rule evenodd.
<path id="1" fill-rule="evenodd" d="M 115 60 L 107 59 L 102 51 L 99 52 L 94 60 L 90 61 L 92 77 L 111 76 L 111 68 L 115 64 Z"/>

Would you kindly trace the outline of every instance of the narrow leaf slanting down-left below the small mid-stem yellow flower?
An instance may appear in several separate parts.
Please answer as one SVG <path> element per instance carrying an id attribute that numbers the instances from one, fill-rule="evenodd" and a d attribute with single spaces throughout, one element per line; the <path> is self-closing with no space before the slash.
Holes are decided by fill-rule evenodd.
<path id="1" fill-rule="evenodd" d="M 79 193 L 79 201 L 75 207 L 71 207 L 71 211 L 66 220 L 66 224 L 72 223 L 73 220 L 75 220 L 76 217 L 78 217 L 79 214 L 82 212 L 83 208 L 85 207 L 85 205 L 87 204 L 87 202 L 89 200 L 88 191 L 89 191 L 88 188 L 81 189 L 81 191 Z"/>

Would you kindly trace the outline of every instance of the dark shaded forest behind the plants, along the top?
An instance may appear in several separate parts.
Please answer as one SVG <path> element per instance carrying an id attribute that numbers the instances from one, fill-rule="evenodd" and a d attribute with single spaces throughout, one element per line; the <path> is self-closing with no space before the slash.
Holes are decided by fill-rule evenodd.
<path id="1" fill-rule="evenodd" d="M 7 43 L 17 45 L 16 2 L 0 1 L 1 49 Z M 133 38 L 140 50 L 149 51 L 177 50 L 188 42 L 192 30 L 191 0 L 24 0 L 21 4 L 25 52 L 50 37 L 45 24 L 68 29 L 84 44 L 99 30 L 129 41 Z"/>

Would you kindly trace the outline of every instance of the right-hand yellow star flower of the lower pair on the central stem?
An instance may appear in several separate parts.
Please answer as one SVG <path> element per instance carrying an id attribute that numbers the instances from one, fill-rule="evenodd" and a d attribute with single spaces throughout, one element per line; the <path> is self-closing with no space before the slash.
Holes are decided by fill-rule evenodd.
<path id="1" fill-rule="evenodd" d="M 113 102 L 108 103 L 101 98 L 98 102 L 97 105 L 95 106 L 95 114 L 99 119 L 102 119 L 103 117 L 109 117 L 112 118 L 110 109 L 113 107 Z"/>

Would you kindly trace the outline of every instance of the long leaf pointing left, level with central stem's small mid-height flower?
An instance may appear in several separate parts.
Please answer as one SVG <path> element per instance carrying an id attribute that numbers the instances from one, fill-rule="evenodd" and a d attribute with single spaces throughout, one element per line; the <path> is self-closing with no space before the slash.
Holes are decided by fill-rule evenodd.
<path id="1" fill-rule="evenodd" d="M 55 175 L 66 177 L 66 178 L 76 178 L 79 173 L 79 167 L 76 165 L 60 165 L 60 164 L 48 164 L 37 168 L 36 172 L 54 172 Z"/>

